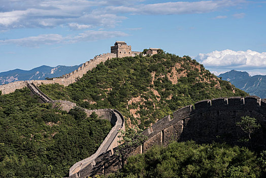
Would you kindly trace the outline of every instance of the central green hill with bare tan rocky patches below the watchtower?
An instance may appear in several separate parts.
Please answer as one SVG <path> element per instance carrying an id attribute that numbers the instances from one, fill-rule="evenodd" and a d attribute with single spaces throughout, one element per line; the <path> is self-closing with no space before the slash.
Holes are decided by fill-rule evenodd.
<path id="1" fill-rule="evenodd" d="M 204 99 L 245 96 L 189 56 L 164 53 L 113 58 L 67 87 L 42 85 L 52 99 L 89 108 L 115 108 L 141 129 L 180 107 Z"/>

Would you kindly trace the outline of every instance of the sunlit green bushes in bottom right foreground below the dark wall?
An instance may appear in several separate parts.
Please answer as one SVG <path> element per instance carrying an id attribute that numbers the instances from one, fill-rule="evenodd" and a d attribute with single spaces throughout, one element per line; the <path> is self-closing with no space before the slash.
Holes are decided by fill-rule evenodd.
<path id="1" fill-rule="evenodd" d="M 128 158 L 108 177 L 265 177 L 266 159 L 238 146 L 173 142 Z"/>

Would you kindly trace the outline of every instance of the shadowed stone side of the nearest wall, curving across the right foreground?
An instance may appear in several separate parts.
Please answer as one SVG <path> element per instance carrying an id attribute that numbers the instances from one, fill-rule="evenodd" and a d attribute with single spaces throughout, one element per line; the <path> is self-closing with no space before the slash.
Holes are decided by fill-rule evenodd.
<path id="1" fill-rule="evenodd" d="M 266 99 L 256 96 L 245 98 L 217 98 L 204 100 L 194 106 L 183 107 L 173 113 L 173 118 L 166 116 L 143 132 L 148 139 L 139 146 L 134 154 L 143 153 L 153 145 L 168 145 L 171 141 L 194 140 L 197 143 L 213 141 L 231 145 L 245 145 L 239 142 L 244 132 L 236 126 L 241 116 L 252 116 L 262 126 L 253 135 L 253 149 L 266 149 Z M 114 156 L 116 148 L 111 149 L 70 177 L 86 177 L 95 174 L 108 174 L 119 169 L 119 162 Z"/>

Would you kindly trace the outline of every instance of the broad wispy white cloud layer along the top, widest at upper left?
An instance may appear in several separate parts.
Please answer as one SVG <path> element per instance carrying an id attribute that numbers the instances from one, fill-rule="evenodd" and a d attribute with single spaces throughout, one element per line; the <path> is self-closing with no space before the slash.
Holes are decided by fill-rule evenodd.
<path id="1" fill-rule="evenodd" d="M 115 27 L 126 19 L 121 13 L 167 15 L 208 13 L 237 6 L 245 0 L 167 2 L 143 0 L 0 0 L 0 30 L 20 27 L 69 26 L 73 29 Z M 120 15 L 119 15 L 120 14 Z"/>

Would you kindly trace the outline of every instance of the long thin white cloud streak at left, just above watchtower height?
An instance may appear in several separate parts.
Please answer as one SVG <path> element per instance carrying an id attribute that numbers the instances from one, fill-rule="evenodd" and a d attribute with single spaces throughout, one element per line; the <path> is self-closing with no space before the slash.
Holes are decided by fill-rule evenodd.
<path id="1" fill-rule="evenodd" d="M 0 44 L 15 44 L 25 47 L 39 47 L 40 45 L 52 45 L 59 43 L 78 43 L 81 41 L 94 41 L 114 37 L 128 36 L 120 31 L 85 31 L 76 36 L 61 36 L 59 34 L 42 34 L 36 37 L 0 40 Z"/>

